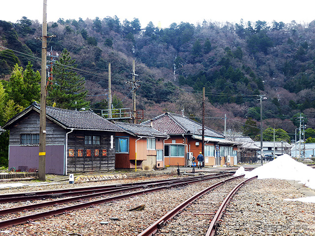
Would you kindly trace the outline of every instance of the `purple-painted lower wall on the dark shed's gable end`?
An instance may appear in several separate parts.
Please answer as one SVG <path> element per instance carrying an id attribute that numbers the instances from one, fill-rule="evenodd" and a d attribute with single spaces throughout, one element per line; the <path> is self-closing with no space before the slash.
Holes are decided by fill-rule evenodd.
<path id="1" fill-rule="evenodd" d="M 9 169 L 38 170 L 39 147 L 9 146 Z M 46 174 L 63 175 L 64 145 L 46 146 Z"/>

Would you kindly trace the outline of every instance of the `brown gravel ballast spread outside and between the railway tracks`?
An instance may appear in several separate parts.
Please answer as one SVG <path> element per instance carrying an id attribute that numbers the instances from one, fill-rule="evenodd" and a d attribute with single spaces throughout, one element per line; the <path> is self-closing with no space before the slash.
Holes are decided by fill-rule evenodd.
<path id="1" fill-rule="evenodd" d="M 169 178 L 169 176 L 163 178 Z M 117 180 L 117 182 L 125 181 L 131 180 Z M 76 233 L 82 236 L 137 236 L 169 210 L 217 181 L 219 180 L 203 181 L 72 211 L 1 229 L 0 235 L 66 236 Z M 116 180 L 108 184 L 112 183 L 116 183 Z M 105 183 L 82 183 L 82 185 L 75 184 L 74 187 L 97 184 Z M 23 191 L 46 190 L 47 188 L 52 188 L 52 186 L 41 186 L 35 189 L 28 187 Z M 58 185 L 55 188 L 61 188 L 61 186 Z M 6 191 L 3 190 L 1 193 Z M 19 190 L 15 189 L 15 191 Z M 315 204 L 284 201 L 284 199 L 300 197 L 303 197 L 301 191 L 292 187 L 286 180 L 252 180 L 242 186 L 230 201 L 218 235 L 315 235 Z M 145 205 L 144 209 L 130 210 L 140 205 Z"/>

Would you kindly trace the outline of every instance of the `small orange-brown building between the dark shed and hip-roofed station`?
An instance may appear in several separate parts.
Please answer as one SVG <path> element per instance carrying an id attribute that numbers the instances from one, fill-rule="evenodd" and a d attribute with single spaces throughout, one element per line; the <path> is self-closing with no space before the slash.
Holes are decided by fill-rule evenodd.
<path id="1" fill-rule="evenodd" d="M 163 141 L 168 135 L 150 125 L 116 122 L 116 169 L 153 170 L 163 168 Z"/>

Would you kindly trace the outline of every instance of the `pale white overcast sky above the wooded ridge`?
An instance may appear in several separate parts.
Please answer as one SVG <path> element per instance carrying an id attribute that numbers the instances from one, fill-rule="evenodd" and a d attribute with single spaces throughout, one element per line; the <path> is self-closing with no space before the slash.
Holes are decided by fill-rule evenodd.
<path id="1" fill-rule="evenodd" d="M 172 23 L 203 20 L 239 23 L 257 20 L 272 23 L 310 23 L 315 20 L 315 0 L 47 0 L 47 22 L 59 18 L 83 20 L 117 17 L 123 22 L 138 18 L 143 28 L 152 21 L 155 26 L 169 27 Z M 0 20 L 15 23 L 23 16 L 43 21 L 43 0 L 1 0 Z"/>

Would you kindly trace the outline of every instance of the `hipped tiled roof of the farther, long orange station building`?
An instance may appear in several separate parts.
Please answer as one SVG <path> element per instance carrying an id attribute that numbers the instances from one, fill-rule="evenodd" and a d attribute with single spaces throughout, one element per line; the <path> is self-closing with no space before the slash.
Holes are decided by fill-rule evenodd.
<path id="1" fill-rule="evenodd" d="M 150 122 L 151 121 L 148 120 L 146 122 L 143 122 L 143 124 L 149 124 Z M 168 135 L 188 133 L 193 135 L 202 135 L 202 124 L 182 115 L 165 113 L 161 116 L 153 118 L 152 122 L 155 129 L 167 133 Z M 206 126 L 205 136 L 224 138 L 221 133 Z"/>

